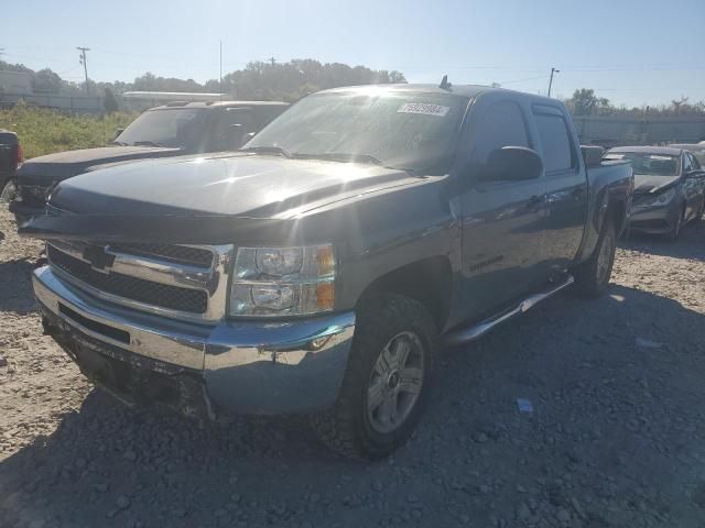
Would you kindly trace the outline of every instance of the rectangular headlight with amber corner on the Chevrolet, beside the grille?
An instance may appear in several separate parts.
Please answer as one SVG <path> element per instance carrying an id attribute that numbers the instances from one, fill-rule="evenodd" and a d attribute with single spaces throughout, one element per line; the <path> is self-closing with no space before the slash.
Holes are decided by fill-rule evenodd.
<path id="1" fill-rule="evenodd" d="M 333 246 L 239 248 L 231 316 L 297 316 L 333 310 Z"/>

